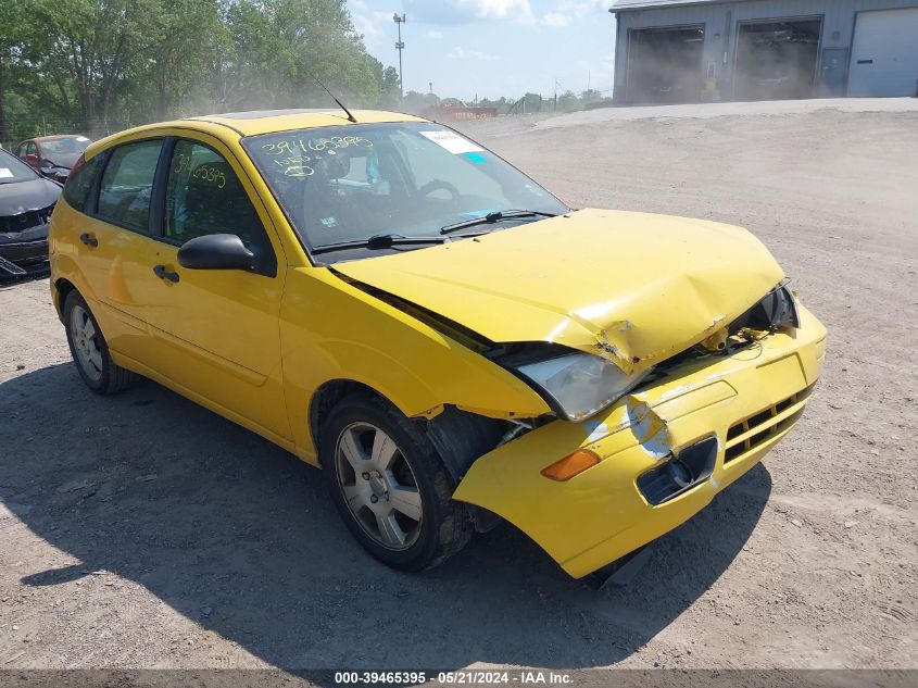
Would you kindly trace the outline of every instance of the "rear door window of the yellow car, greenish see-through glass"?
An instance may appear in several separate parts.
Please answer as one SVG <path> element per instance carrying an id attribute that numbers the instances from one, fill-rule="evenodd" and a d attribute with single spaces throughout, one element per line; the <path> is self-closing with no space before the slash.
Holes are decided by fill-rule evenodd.
<path id="1" fill-rule="evenodd" d="M 162 147 L 162 140 L 139 141 L 112 151 L 99 187 L 100 217 L 128 229 L 148 232 L 153 177 Z"/>

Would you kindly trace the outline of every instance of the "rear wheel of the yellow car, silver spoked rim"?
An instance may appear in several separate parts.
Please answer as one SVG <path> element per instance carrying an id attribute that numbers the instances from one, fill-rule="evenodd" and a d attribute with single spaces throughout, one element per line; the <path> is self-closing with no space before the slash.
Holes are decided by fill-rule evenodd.
<path id="1" fill-rule="evenodd" d="M 64 325 L 76 370 L 89 389 L 114 395 L 137 380 L 137 375 L 112 361 L 99 323 L 76 291 L 64 301 Z"/>

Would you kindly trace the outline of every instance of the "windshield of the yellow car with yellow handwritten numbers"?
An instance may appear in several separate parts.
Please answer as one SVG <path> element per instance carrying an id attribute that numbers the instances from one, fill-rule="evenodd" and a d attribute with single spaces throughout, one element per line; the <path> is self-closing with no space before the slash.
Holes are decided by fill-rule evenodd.
<path id="1" fill-rule="evenodd" d="M 443 227 L 498 211 L 541 215 L 507 213 L 500 216 L 503 222 L 482 222 L 474 232 L 567 211 L 521 172 L 437 124 L 310 128 L 242 142 L 310 249 L 380 235 L 440 236 Z M 400 246 L 400 250 L 424 246 Z M 327 258 L 334 262 L 344 257 Z"/>

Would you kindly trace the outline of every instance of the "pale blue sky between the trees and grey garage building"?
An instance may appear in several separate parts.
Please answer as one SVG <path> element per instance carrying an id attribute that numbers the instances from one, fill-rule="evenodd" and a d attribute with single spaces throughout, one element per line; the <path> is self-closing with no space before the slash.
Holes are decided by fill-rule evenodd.
<path id="1" fill-rule="evenodd" d="M 612 96 L 614 0 L 347 0 L 369 53 L 398 67 L 402 40 L 405 91 L 441 98 L 549 97 L 588 86 Z"/>

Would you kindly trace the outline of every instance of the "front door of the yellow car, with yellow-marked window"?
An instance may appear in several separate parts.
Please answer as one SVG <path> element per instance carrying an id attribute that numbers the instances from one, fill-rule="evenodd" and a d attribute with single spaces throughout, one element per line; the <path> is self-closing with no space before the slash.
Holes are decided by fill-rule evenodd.
<path id="1" fill-rule="evenodd" d="M 279 320 L 286 260 L 268 214 L 226 147 L 203 134 L 171 138 L 159 174 L 158 248 L 146 266 L 158 283 L 146 318 L 149 365 L 196 400 L 290 446 Z M 255 270 L 188 270 L 179 248 L 236 235 Z"/>

